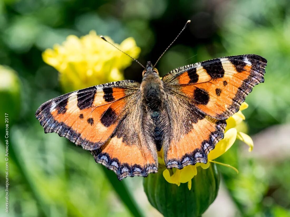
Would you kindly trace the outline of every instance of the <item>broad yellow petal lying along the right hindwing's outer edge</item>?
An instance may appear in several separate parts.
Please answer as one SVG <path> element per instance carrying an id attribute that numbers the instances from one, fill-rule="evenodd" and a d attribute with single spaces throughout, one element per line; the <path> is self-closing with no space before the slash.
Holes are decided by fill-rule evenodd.
<path id="1" fill-rule="evenodd" d="M 224 138 L 216 144 L 215 149 L 211 150 L 208 155 L 209 160 L 216 159 L 224 154 L 234 144 L 237 138 L 237 130 L 231 128 L 224 134 Z"/>

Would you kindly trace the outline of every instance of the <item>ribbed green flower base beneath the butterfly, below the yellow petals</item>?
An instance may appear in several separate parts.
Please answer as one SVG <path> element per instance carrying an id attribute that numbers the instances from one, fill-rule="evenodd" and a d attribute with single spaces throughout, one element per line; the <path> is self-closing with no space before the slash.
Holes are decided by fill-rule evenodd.
<path id="1" fill-rule="evenodd" d="M 216 165 L 211 163 L 206 170 L 197 167 L 191 190 L 187 183 L 180 186 L 168 183 L 162 175 L 164 169 L 144 178 L 144 191 L 151 205 L 165 217 L 201 216 L 218 194 L 220 173 Z"/>

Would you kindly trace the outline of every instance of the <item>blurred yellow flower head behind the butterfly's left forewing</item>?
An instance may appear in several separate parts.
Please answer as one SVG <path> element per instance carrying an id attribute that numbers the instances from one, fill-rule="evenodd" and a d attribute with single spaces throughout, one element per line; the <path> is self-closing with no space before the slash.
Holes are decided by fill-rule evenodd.
<path id="1" fill-rule="evenodd" d="M 125 39 L 120 45 L 109 37 L 106 40 L 133 58 L 139 56 L 140 48 L 133 38 Z M 123 70 L 132 62 L 130 57 L 105 42 L 95 31 L 81 38 L 68 36 L 62 45 L 46 49 L 42 58 L 59 71 L 60 83 L 66 92 L 123 80 Z"/>

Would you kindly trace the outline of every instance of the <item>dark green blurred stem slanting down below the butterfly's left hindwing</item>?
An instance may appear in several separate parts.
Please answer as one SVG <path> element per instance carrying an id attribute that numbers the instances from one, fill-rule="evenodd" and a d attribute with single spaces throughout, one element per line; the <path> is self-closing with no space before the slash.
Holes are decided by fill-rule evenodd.
<path id="1" fill-rule="evenodd" d="M 144 215 L 142 214 L 141 209 L 139 208 L 137 203 L 135 203 L 135 200 L 129 192 L 125 183 L 123 181 L 119 181 L 116 174 L 113 171 L 108 170 L 103 165 L 102 169 L 104 171 L 104 174 L 108 178 L 108 181 L 111 183 L 113 189 L 115 190 L 119 198 L 123 201 L 124 205 L 132 213 L 132 215 L 135 217 L 143 217 Z"/>

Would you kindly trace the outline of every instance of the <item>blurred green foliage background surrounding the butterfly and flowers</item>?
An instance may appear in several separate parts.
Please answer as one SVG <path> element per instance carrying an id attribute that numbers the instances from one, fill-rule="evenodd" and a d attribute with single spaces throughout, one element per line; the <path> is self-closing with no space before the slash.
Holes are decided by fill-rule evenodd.
<path id="1" fill-rule="evenodd" d="M 244 111 L 254 150 L 236 144 L 218 159 L 240 173 L 219 167 L 222 187 L 204 216 L 290 216 L 290 1 L 0 0 L 1 216 L 133 216 L 103 166 L 67 139 L 44 134 L 35 118 L 43 102 L 62 94 L 58 72 L 41 52 L 70 34 L 95 30 L 117 43 L 134 37 L 139 61 L 155 62 L 189 19 L 157 64 L 161 76 L 222 56 L 258 54 L 268 60 L 265 83 L 249 94 Z M 133 62 L 125 78 L 140 81 L 142 68 Z M 3 194 L 5 113 L 9 214 Z M 144 216 L 160 216 L 144 195 L 141 177 L 121 183 Z"/>

